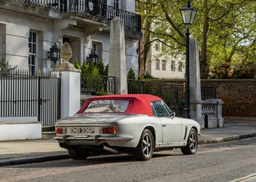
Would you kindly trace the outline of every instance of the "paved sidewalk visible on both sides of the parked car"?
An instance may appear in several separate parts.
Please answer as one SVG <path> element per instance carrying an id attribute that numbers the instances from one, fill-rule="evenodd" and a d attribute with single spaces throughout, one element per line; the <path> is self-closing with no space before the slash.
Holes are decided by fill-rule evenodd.
<path id="1" fill-rule="evenodd" d="M 256 137 L 256 121 L 225 122 L 223 128 L 201 130 L 199 144 L 227 142 Z M 60 148 L 54 139 L 16 140 L 0 142 L 0 165 L 44 162 L 69 158 L 66 149 Z"/>

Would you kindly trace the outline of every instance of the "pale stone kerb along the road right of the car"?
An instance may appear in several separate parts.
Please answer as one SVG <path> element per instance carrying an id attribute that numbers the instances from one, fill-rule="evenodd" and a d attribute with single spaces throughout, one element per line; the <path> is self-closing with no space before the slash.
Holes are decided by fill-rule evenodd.
<path id="1" fill-rule="evenodd" d="M 198 144 L 214 144 L 221 142 L 230 142 L 234 140 L 247 139 L 251 137 L 256 137 L 256 133 L 245 133 L 241 135 L 232 135 L 230 137 L 214 138 L 214 139 L 199 139 Z"/>

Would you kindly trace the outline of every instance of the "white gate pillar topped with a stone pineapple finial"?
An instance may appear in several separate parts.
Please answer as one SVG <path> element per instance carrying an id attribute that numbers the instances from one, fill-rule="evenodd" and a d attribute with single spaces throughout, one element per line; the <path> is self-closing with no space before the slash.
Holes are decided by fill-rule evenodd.
<path id="1" fill-rule="evenodd" d="M 68 63 L 72 57 L 70 45 L 63 43 L 60 50 L 63 63 L 51 70 L 61 77 L 61 118 L 76 114 L 80 109 L 80 84 L 81 70 L 77 70 L 74 64 Z"/>

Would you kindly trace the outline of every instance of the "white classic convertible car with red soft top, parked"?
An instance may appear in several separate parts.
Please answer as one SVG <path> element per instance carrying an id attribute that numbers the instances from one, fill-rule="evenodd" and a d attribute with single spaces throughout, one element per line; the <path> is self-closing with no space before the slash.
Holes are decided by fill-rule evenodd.
<path id="1" fill-rule="evenodd" d="M 57 121 L 60 147 L 75 160 L 90 153 L 130 153 L 149 160 L 154 151 L 180 148 L 195 154 L 200 125 L 175 118 L 161 98 L 153 95 L 108 95 L 89 98 L 72 117 Z"/>

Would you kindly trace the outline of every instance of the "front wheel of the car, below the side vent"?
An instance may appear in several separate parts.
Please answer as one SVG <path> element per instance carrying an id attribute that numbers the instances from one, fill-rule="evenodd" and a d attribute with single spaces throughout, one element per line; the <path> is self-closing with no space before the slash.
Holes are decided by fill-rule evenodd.
<path id="1" fill-rule="evenodd" d="M 186 146 L 181 148 L 181 151 L 184 155 L 192 155 L 196 153 L 197 146 L 198 146 L 197 132 L 194 128 L 192 128 L 191 131 L 189 132 L 188 143 Z"/>

